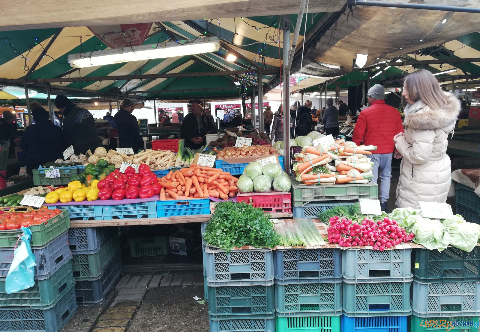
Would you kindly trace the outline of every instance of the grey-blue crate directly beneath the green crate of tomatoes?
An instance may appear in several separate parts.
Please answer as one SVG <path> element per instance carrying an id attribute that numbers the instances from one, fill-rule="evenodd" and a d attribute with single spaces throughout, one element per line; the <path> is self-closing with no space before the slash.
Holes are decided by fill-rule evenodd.
<path id="1" fill-rule="evenodd" d="M 34 279 L 47 279 L 72 259 L 67 232 L 42 247 L 32 247 L 35 255 Z M 13 261 L 13 248 L 0 251 L 0 277 L 6 277 Z"/>

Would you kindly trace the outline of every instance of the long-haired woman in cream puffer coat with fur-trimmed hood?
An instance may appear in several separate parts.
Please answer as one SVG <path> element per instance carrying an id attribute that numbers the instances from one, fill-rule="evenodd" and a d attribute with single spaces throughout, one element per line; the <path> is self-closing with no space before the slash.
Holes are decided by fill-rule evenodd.
<path id="1" fill-rule="evenodd" d="M 403 156 L 396 206 L 418 209 L 419 202 L 444 203 L 451 181 L 447 137 L 453 133 L 460 102 L 441 90 L 428 70 L 420 69 L 405 78 L 405 134 L 394 137 Z"/>

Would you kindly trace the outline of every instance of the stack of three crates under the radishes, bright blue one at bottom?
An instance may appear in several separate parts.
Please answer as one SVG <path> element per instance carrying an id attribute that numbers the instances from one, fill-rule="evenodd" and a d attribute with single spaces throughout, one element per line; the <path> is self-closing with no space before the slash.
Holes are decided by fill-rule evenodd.
<path id="1" fill-rule="evenodd" d="M 411 249 L 342 251 L 342 332 L 406 332 Z"/>

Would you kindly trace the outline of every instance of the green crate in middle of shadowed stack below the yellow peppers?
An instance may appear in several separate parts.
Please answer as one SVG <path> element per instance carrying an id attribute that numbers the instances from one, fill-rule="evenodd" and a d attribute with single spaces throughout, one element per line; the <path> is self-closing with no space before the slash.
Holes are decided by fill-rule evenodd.
<path id="1" fill-rule="evenodd" d="M 120 252 L 119 236 L 115 234 L 100 245 L 100 250 L 92 254 L 72 256 L 73 276 L 75 280 L 98 279 L 102 269 Z"/>

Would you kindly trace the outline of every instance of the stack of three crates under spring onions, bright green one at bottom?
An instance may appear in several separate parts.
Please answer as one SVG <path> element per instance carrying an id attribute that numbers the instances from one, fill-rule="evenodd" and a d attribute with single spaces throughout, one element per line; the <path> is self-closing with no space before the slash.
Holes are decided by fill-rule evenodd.
<path id="1" fill-rule="evenodd" d="M 339 331 L 341 250 L 281 249 L 274 257 L 276 331 Z"/>

